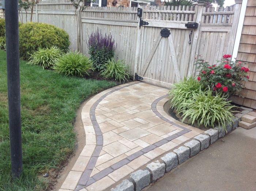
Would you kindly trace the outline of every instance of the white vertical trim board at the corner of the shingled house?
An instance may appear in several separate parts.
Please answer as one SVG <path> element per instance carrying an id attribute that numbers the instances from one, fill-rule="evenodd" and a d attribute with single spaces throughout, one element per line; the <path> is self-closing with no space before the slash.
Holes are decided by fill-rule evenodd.
<path id="1" fill-rule="evenodd" d="M 241 6 L 241 12 L 239 16 L 239 21 L 238 21 L 238 26 L 237 26 L 237 34 L 235 38 L 235 43 L 234 43 L 234 49 L 233 49 L 233 54 L 232 54 L 232 61 L 235 61 L 238 53 L 238 47 L 240 44 L 240 39 L 241 39 L 241 34 L 242 34 L 242 28 L 244 25 L 244 17 L 245 17 L 245 10 L 247 6 L 247 1 L 248 0 L 243 0 L 242 1 L 242 6 Z"/>

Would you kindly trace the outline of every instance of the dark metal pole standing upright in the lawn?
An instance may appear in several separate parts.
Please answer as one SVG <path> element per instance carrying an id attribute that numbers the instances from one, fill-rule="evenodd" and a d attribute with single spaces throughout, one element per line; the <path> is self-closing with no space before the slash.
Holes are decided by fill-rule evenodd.
<path id="1" fill-rule="evenodd" d="M 18 0 L 5 1 L 5 35 L 12 176 L 22 172 Z"/>

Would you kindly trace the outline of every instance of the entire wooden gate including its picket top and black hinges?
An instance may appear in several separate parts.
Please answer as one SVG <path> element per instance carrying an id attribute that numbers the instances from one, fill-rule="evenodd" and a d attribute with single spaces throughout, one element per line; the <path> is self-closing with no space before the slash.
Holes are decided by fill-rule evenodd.
<path id="1" fill-rule="evenodd" d="M 137 39 L 141 46 L 138 52 L 136 73 L 143 81 L 170 87 L 190 74 L 190 55 L 196 29 L 185 26 L 196 22 L 197 7 L 159 7 L 144 9 L 143 21 Z M 164 34 L 167 33 L 167 35 Z M 138 45 L 137 45 L 138 47 Z"/>

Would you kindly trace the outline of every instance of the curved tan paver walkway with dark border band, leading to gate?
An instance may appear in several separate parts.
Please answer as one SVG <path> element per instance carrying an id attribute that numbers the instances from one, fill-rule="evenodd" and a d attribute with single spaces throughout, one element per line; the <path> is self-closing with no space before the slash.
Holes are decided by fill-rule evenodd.
<path id="1" fill-rule="evenodd" d="M 82 110 L 86 145 L 60 191 L 101 191 L 200 129 L 163 111 L 168 89 L 131 82 L 94 96 Z"/>

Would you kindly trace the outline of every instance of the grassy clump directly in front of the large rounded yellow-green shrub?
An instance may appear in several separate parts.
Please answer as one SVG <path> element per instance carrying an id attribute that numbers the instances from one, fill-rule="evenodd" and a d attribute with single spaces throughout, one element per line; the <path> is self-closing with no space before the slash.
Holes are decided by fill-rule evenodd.
<path id="1" fill-rule="evenodd" d="M 29 58 L 27 64 L 41 65 L 44 69 L 52 68 L 61 57 L 62 51 L 56 46 L 46 49 L 34 51 Z"/>

